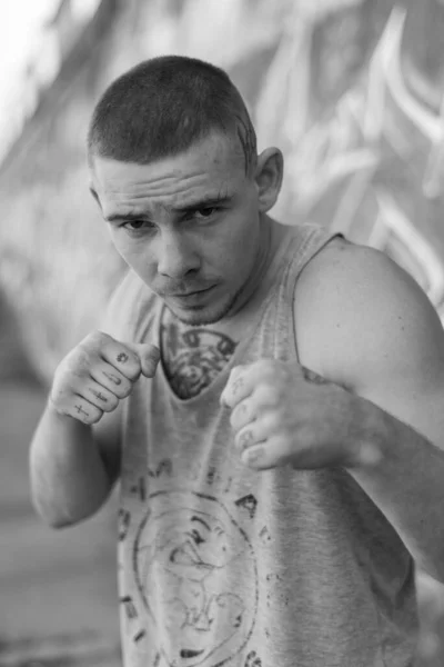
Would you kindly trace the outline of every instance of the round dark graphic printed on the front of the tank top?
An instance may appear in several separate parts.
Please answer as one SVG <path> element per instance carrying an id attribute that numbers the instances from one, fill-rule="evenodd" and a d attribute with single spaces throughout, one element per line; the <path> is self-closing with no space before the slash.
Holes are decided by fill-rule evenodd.
<path id="1" fill-rule="evenodd" d="M 159 491 L 148 505 L 132 560 L 153 655 L 170 667 L 231 663 L 258 611 L 258 568 L 246 534 L 211 496 Z"/>

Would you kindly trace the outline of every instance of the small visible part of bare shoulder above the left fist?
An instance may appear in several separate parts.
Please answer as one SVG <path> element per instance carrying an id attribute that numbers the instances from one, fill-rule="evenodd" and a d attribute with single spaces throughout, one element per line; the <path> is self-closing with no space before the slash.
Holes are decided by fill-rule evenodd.
<path id="1" fill-rule="evenodd" d="M 110 296 L 101 330 L 118 340 L 138 341 L 149 326 L 157 299 L 132 269 L 127 270 Z"/>

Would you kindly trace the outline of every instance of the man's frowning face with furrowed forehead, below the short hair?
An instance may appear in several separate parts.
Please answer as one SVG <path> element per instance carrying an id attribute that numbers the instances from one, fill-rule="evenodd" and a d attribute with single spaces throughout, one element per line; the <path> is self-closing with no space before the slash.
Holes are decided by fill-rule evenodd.
<path id="1" fill-rule="evenodd" d="M 149 165 L 94 158 L 92 187 L 115 248 L 190 325 L 221 319 L 259 250 L 258 189 L 221 135 Z"/>

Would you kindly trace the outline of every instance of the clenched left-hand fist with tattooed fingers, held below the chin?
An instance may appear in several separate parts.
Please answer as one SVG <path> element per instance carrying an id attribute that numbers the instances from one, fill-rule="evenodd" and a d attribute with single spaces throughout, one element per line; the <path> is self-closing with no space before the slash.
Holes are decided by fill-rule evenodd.
<path id="1" fill-rule="evenodd" d="M 154 376 L 159 358 L 153 345 L 123 344 L 93 331 L 60 362 L 49 405 L 59 415 L 95 424 L 131 394 L 141 374 Z"/>

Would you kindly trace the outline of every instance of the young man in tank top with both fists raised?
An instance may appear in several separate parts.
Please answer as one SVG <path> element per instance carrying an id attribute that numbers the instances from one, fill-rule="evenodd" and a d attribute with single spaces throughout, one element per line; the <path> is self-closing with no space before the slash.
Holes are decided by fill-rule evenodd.
<path id="1" fill-rule="evenodd" d="M 211 64 L 114 81 L 89 162 L 130 271 L 56 372 L 31 480 L 62 527 L 120 479 L 125 667 L 406 667 L 414 563 L 444 578 L 427 298 L 382 253 L 269 217 L 282 155 L 256 155 Z"/>

